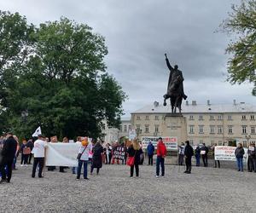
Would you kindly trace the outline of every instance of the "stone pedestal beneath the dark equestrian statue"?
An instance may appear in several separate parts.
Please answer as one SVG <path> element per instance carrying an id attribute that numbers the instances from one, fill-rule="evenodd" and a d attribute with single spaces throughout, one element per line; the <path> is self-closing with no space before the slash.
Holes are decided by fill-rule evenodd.
<path id="1" fill-rule="evenodd" d="M 187 141 L 187 121 L 182 114 L 166 114 L 162 123 L 162 136 L 177 137 L 177 144 Z"/>

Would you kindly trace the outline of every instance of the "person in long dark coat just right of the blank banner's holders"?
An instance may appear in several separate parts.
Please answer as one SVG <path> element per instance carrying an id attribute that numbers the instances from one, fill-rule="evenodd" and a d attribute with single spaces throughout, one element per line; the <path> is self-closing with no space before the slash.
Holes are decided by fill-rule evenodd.
<path id="1" fill-rule="evenodd" d="M 90 175 L 92 174 L 94 168 L 96 168 L 96 174 L 99 175 L 100 169 L 102 168 L 102 153 L 103 147 L 100 141 L 96 142 L 96 146 L 92 149 L 92 164 L 90 167 Z"/>

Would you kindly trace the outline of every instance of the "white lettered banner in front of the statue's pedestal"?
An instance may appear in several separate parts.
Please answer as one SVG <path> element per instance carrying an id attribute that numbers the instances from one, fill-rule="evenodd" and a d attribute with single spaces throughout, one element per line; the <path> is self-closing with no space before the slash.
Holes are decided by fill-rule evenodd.
<path id="1" fill-rule="evenodd" d="M 157 148 L 157 141 L 159 137 L 142 137 L 143 149 L 148 147 L 148 142 L 151 141 L 154 145 L 154 148 Z M 177 137 L 162 137 L 164 144 L 166 145 L 167 150 L 177 150 Z"/>

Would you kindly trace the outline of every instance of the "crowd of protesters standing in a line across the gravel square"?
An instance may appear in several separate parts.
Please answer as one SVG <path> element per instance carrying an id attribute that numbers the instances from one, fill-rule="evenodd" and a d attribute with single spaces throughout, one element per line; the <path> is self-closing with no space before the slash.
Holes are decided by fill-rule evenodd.
<path id="1" fill-rule="evenodd" d="M 48 147 L 48 142 L 55 143 L 58 142 L 56 137 L 49 138 L 44 137 L 44 135 L 38 135 L 37 140 L 23 139 L 21 144 L 17 136 L 12 133 L 8 133 L 0 138 L 0 173 L 2 180 L 0 183 L 9 182 L 12 176 L 12 170 L 15 170 L 16 159 L 21 155 L 20 166 L 27 166 L 31 164 L 33 156 L 32 165 L 32 178 L 36 176 L 38 170 L 38 177 L 42 178 L 45 162 L 45 149 Z M 63 138 L 63 143 L 69 142 L 67 137 Z M 76 179 L 79 180 L 81 176 L 82 168 L 83 176 L 85 180 L 88 178 L 88 165 L 90 164 L 90 174 L 96 169 L 96 175 L 99 174 L 102 164 L 128 164 L 130 166 L 130 176 L 134 176 L 134 168 L 136 177 L 139 176 L 139 165 L 143 164 L 144 153 L 143 145 L 137 141 L 133 140 L 131 143 L 119 144 L 118 141 L 113 144 L 107 143 L 103 144 L 102 141 L 88 141 L 87 137 L 78 137 L 76 143 L 79 143 L 79 152 L 77 156 L 78 164 L 72 167 L 73 174 L 76 174 Z M 178 146 L 178 165 L 186 165 L 184 173 L 190 174 L 192 168 L 192 157 L 195 156 L 195 166 L 200 166 L 200 161 L 202 159 L 203 165 L 208 166 L 208 153 L 209 150 L 212 151 L 214 156 L 214 144 L 212 147 L 207 147 L 206 144 L 201 144 L 195 147 L 189 145 L 189 141 L 185 141 L 180 146 Z M 156 152 L 155 152 L 156 149 Z M 115 156 L 115 151 L 121 150 L 125 154 L 122 158 L 117 158 Z M 164 177 L 165 176 L 165 158 L 167 155 L 166 145 L 160 137 L 157 146 L 154 147 L 152 142 L 148 143 L 148 147 L 145 149 L 148 154 L 148 165 L 153 165 L 154 163 L 154 153 L 156 153 L 156 168 L 155 176 Z M 237 170 L 243 171 L 243 157 L 245 151 L 241 143 L 238 144 L 236 148 L 236 162 Z M 247 150 L 248 160 L 247 160 L 247 170 L 249 172 L 256 172 L 256 150 L 255 144 L 251 143 Z M 214 160 L 214 167 L 220 167 L 220 162 Z M 67 167 L 60 166 L 60 172 L 66 172 Z M 55 166 L 48 166 L 49 171 L 55 170 Z M 161 171 L 161 172 L 160 172 Z"/>

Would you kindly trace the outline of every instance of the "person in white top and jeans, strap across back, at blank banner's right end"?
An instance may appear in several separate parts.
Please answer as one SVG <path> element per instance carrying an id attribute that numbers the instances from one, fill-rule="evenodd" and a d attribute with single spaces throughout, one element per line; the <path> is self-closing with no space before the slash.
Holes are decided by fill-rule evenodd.
<path id="1" fill-rule="evenodd" d="M 77 180 L 80 179 L 82 166 L 84 164 L 84 179 L 89 180 L 87 177 L 87 166 L 88 166 L 88 160 L 89 160 L 89 153 L 90 153 L 90 146 L 89 142 L 87 140 L 84 140 L 81 142 L 81 147 L 79 148 L 79 154 L 78 154 L 78 171 L 77 171 Z"/>

